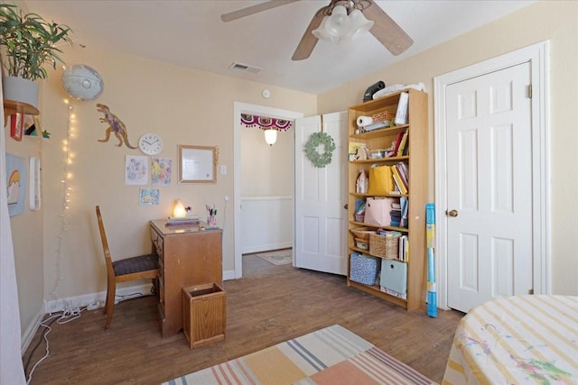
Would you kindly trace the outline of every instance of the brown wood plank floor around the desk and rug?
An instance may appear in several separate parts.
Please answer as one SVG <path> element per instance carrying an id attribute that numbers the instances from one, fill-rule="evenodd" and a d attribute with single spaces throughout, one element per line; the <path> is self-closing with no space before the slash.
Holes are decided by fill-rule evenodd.
<path id="1" fill-rule="evenodd" d="M 225 341 L 191 350 L 182 333 L 163 339 L 154 297 L 130 299 L 115 307 L 107 332 L 102 309 L 84 311 L 69 324 L 52 323 L 50 357 L 30 383 L 155 384 L 334 324 L 442 380 L 461 313 L 440 311 L 432 318 L 424 310 L 407 312 L 348 288 L 344 277 L 275 266 L 251 255 L 244 257 L 243 274 L 224 282 Z M 26 378 L 45 353 L 42 343 L 31 359 L 43 331 L 23 356 Z"/>

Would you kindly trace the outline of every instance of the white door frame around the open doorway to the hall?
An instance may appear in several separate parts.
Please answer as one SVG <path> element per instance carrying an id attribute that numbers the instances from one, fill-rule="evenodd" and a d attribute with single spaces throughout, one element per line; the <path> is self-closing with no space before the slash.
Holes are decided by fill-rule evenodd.
<path id="1" fill-rule="evenodd" d="M 233 133 L 233 158 L 235 162 L 234 166 L 234 213 L 235 213 L 235 270 L 234 270 L 234 277 L 228 277 L 228 279 L 238 279 L 243 276 L 243 239 L 242 239 L 242 212 L 241 212 L 241 179 L 242 179 L 242 172 L 241 172 L 241 151 L 247 151 L 247 149 L 242 149 L 241 146 L 241 114 L 251 114 L 251 115 L 264 115 L 269 117 L 275 117 L 279 119 L 286 119 L 286 120 L 294 120 L 299 117 L 303 117 L 303 113 L 283 110 L 278 108 L 266 107 L 264 105 L 251 105 L 247 103 L 235 102 L 234 103 L 234 112 L 233 112 L 233 119 L 234 119 L 234 133 Z M 294 130 L 290 130 L 286 133 L 280 133 L 279 135 L 292 135 L 294 137 Z M 294 141 L 293 141 L 294 142 Z M 265 145 L 265 140 L 263 141 Z M 275 148 L 275 144 L 273 145 Z M 292 159 L 292 166 L 294 165 L 294 160 Z M 293 170 L 294 167 L 292 167 Z M 293 172 L 291 173 L 293 177 Z M 294 181 L 293 181 L 294 183 Z M 294 192 L 292 192 L 292 197 Z M 294 212 L 292 210 L 291 217 L 294 217 Z M 293 227 L 293 226 L 291 226 Z M 293 230 L 292 232 L 292 239 L 294 239 Z M 225 279 L 225 276 L 223 277 Z"/>

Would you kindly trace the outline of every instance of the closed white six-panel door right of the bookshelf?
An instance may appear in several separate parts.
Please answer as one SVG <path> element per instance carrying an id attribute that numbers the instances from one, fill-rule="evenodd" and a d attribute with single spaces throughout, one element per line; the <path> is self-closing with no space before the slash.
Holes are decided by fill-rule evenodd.
<path id="1" fill-rule="evenodd" d="M 530 64 L 446 88 L 448 306 L 532 289 Z"/>

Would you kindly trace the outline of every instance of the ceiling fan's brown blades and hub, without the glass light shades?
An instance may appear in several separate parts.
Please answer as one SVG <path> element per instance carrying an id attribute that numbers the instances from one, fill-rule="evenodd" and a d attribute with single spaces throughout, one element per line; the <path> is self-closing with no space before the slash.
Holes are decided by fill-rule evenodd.
<path id="1" fill-rule="evenodd" d="M 220 19 L 223 22 L 231 22 L 251 14 L 257 14 L 280 5 L 294 3 L 299 0 L 271 0 L 258 5 L 252 5 L 247 8 L 239 9 L 228 14 L 221 14 Z M 320 36 L 320 26 L 324 25 L 324 18 L 331 16 L 334 10 L 344 8 L 347 14 L 358 10 L 367 19 L 373 22 L 369 32 L 375 36 L 384 47 L 392 54 L 399 55 L 407 50 L 414 43 L 411 37 L 389 17 L 374 0 L 330 0 L 329 5 L 325 5 L 317 11 L 312 18 L 311 23 L 303 33 L 299 45 L 294 51 L 292 60 L 303 60 L 309 58 L 312 50 L 315 48 Z M 339 9 L 343 12 L 343 9 Z M 336 12 L 337 13 L 337 12 Z M 314 34 L 315 33 L 315 34 Z"/>

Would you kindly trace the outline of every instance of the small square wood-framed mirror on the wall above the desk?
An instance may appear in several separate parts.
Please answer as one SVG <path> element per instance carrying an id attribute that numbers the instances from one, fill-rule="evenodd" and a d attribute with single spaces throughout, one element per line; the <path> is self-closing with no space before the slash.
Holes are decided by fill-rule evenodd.
<path id="1" fill-rule="evenodd" d="M 215 183 L 218 161 L 217 147 L 179 144 L 179 183 Z"/>

